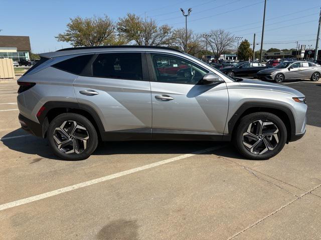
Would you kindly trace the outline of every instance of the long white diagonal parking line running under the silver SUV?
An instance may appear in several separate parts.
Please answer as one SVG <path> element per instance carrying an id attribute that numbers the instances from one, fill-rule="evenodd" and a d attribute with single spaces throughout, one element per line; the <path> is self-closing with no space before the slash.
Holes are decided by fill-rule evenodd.
<path id="1" fill-rule="evenodd" d="M 53 191 L 48 191 L 46 193 L 42 193 L 42 194 L 39 194 L 39 195 L 35 195 L 35 196 L 31 196 L 31 197 L 20 199 L 20 200 L 8 202 L 8 203 L 0 205 L 0 211 L 4 210 L 4 209 L 15 207 L 15 206 L 19 206 L 19 205 L 22 205 L 22 204 L 26 204 L 26 203 L 29 203 L 29 202 L 33 202 L 33 201 L 37 201 L 37 200 L 40 200 L 40 199 L 44 199 L 44 198 L 47 198 L 47 197 L 50 197 L 50 196 L 55 196 L 55 195 L 61 194 L 63 192 L 72 191 L 72 190 L 75 190 L 75 189 L 78 189 L 78 188 L 81 188 L 81 187 L 90 186 L 90 185 L 93 185 L 93 184 L 96 184 L 96 183 L 99 183 L 99 182 L 103 182 L 103 181 L 114 179 L 114 178 L 117 178 L 117 177 L 120 177 L 120 176 L 128 175 L 128 174 L 131 174 L 131 173 L 134 173 L 134 172 L 142 171 L 142 170 L 145 170 L 145 169 L 148 169 L 148 168 L 152 168 L 152 167 L 155 167 L 155 166 L 159 166 L 159 165 L 163 165 L 163 164 L 170 163 L 170 162 L 173 162 L 173 161 L 181 160 L 181 159 L 184 159 L 184 158 L 187 158 L 187 157 L 190 157 L 190 156 L 194 156 L 194 155 L 197 155 L 197 154 L 202 154 L 202 153 L 214 151 L 214 150 L 223 148 L 224 146 L 225 145 L 219 145 L 219 146 L 214 146 L 214 147 L 202 149 L 202 150 L 195 151 L 195 152 L 192 152 L 192 153 L 188 153 L 188 154 L 184 154 L 184 155 L 180 155 L 180 156 L 175 156 L 175 157 L 172 157 L 172 158 L 169 158 L 169 159 L 166 159 L 166 160 L 156 161 L 156 162 L 153 162 L 153 163 L 150 163 L 150 164 L 147 164 L 147 165 L 131 168 L 129 170 L 120 171 L 120 172 L 117 172 L 117 173 L 114 173 L 114 174 L 111 174 L 111 175 L 99 177 L 99 178 L 92 179 L 92 180 L 89 180 L 89 181 L 84 181 L 84 182 L 81 182 L 81 183 L 78 183 L 78 184 L 74 184 L 74 185 L 71 185 L 71 186 L 66 186 L 66 187 L 59 188 L 59 189 L 56 189 L 56 190 L 53 190 Z"/>

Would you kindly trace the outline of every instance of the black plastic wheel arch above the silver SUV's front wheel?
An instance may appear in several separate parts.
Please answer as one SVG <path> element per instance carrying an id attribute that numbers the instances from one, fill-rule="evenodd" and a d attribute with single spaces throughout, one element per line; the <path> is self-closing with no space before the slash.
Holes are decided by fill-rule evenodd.
<path id="1" fill-rule="evenodd" d="M 290 108 L 277 103 L 268 103 L 268 102 L 243 103 L 228 121 L 229 134 L 232 136 L 233 134 L 235 134 L 238 123 L 244 115 L 247 115 L 253 112 L 260 112 L 260 111 L 270 112 L 281 118 L 287 130 L 286 142 L 288 143 L 291 140 L 292 136 L 295 135 L 294 115 Z"/>

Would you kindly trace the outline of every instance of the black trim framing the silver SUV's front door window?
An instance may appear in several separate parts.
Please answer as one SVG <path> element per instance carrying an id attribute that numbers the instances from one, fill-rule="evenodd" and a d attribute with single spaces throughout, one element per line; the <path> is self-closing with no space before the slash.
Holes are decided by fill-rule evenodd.
<path id="1" fill-rule="evenodd" d="M 206 71 L 207 73 L 210 73 L 211 71 L 207 68 L 205 68 L 204 66 L 198 64 L 197 62 L 191 61 L 190 59 L 183 57 L 181 55 L 176 55 L 176 54 L 172 54 L 172 53 L 167 53 L 167 52 L 146 52 L 146 56 L 147 56 L 147 67 L 148 67 L 148 72 L 149 72 L 149 81 L 154 81 L 154 82 L 162 82 L 162 83 L 171 83 L 171 84 L 188 84 L 188 85 L 197 85 L 198 83 L 182 83 L 182 82 L 164 82 L 164 81 L 157 81 L 156 78 L 156 73 L 155 73 L 155 69 L 154 69 L 154 65 L 152 62 L 152 56 L 151 54 L 155 54 L 155 55 L 168 55 L 168 56 L 172 56 L 172 57 L 178 57 L 178 58 L 182 58 L 184 60 L 186 60 L 187 62 L 190 62 L 194 65 L 197 65 L 198 67 L 200 67 L 201 69 L 203 69 L 204 71 Z M 218 75 L 219 76 L 219 75 Z M 220 76 L 219 76 L 220 77 Z M 221 78 L 221 77 L 220 77 Z"/>

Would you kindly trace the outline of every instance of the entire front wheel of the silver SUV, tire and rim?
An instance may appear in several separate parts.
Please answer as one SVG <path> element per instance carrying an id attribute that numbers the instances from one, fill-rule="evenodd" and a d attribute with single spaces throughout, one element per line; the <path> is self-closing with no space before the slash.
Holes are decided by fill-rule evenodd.
<path id="1" fill-rule="evenodd" d="M 279 153 L 286 141 L 284 122 L 269 112 L 254 112 L 242 117 L 234 142 L 246 158 L 263 160 Z"/>

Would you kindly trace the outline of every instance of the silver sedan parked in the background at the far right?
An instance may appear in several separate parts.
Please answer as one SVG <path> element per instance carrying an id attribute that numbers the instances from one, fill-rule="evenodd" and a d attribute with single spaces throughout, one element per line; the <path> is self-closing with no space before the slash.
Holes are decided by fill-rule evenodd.
<path id="1" fill-rule="evenodd" d="M 284 61 L 272 68 L 257 72 L 257 78 L 282 82 L 287 79 L 320 79 L 321 67 L 308 61 Z"/>

